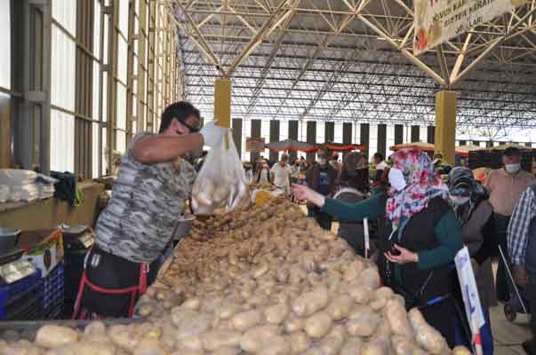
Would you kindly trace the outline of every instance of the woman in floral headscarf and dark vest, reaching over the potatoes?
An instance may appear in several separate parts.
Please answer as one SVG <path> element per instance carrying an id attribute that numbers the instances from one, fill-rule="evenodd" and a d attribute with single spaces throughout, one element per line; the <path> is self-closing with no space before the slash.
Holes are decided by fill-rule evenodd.
<path id="1" fill-rule="evenodd" d="M 427 154 L 403 149 L 391 155 L 388 193 L 350 205 L 327 199 L 302 185 L 300 200 L 316 204 L 342 221 L 379 219 L 377 263 L 384 284 L 404 296 L 406 307 L 420 307 L 424 318 L 454 344 L 456 312 L 452 261 L 462 247 L 460 228 L 449 205 L 449 190 Z"/>

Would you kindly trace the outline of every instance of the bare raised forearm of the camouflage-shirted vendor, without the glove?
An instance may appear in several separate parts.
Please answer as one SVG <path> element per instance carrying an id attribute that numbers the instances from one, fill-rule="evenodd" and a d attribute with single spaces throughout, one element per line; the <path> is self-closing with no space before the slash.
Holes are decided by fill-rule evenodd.
<path id="1" fill-rule="evenodd" d="M 135 142 L 132 156 L 142 164 L 171 162 L 189 151 L 201 148 L 203 143 L 203 136 L 199 133 L 178 137 L 155 135 Z"/>

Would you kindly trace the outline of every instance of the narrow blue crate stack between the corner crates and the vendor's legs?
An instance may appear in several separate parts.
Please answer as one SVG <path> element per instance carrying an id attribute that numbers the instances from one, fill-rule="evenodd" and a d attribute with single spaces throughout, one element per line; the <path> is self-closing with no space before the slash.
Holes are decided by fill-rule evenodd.
<path id="1" fill-rule="evenodd" d="M 65 264 L 58 263 L 43 279 L 43 318 L 57 319 L 63 311 Z"/>

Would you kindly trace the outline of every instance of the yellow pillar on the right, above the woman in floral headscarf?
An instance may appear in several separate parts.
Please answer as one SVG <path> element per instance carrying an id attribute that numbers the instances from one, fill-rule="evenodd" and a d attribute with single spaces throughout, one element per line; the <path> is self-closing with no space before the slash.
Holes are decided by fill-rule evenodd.
<path id="1" fill-rule="evenodd" d="M 456 149 L 456 93 L 439 91 L 436 94 L 436 153 L 454 165 Z"/>

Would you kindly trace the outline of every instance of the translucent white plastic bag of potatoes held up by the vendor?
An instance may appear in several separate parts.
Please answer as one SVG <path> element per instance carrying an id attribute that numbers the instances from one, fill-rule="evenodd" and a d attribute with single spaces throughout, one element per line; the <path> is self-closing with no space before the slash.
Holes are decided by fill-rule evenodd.
<path id="1" fill-rule="evenodd" d="M 247 178 L 229 132 L 204 159 L 192 190 L 192 210 L 195 214 L 227 213 L 249 201 L 246 195 Z"/>

